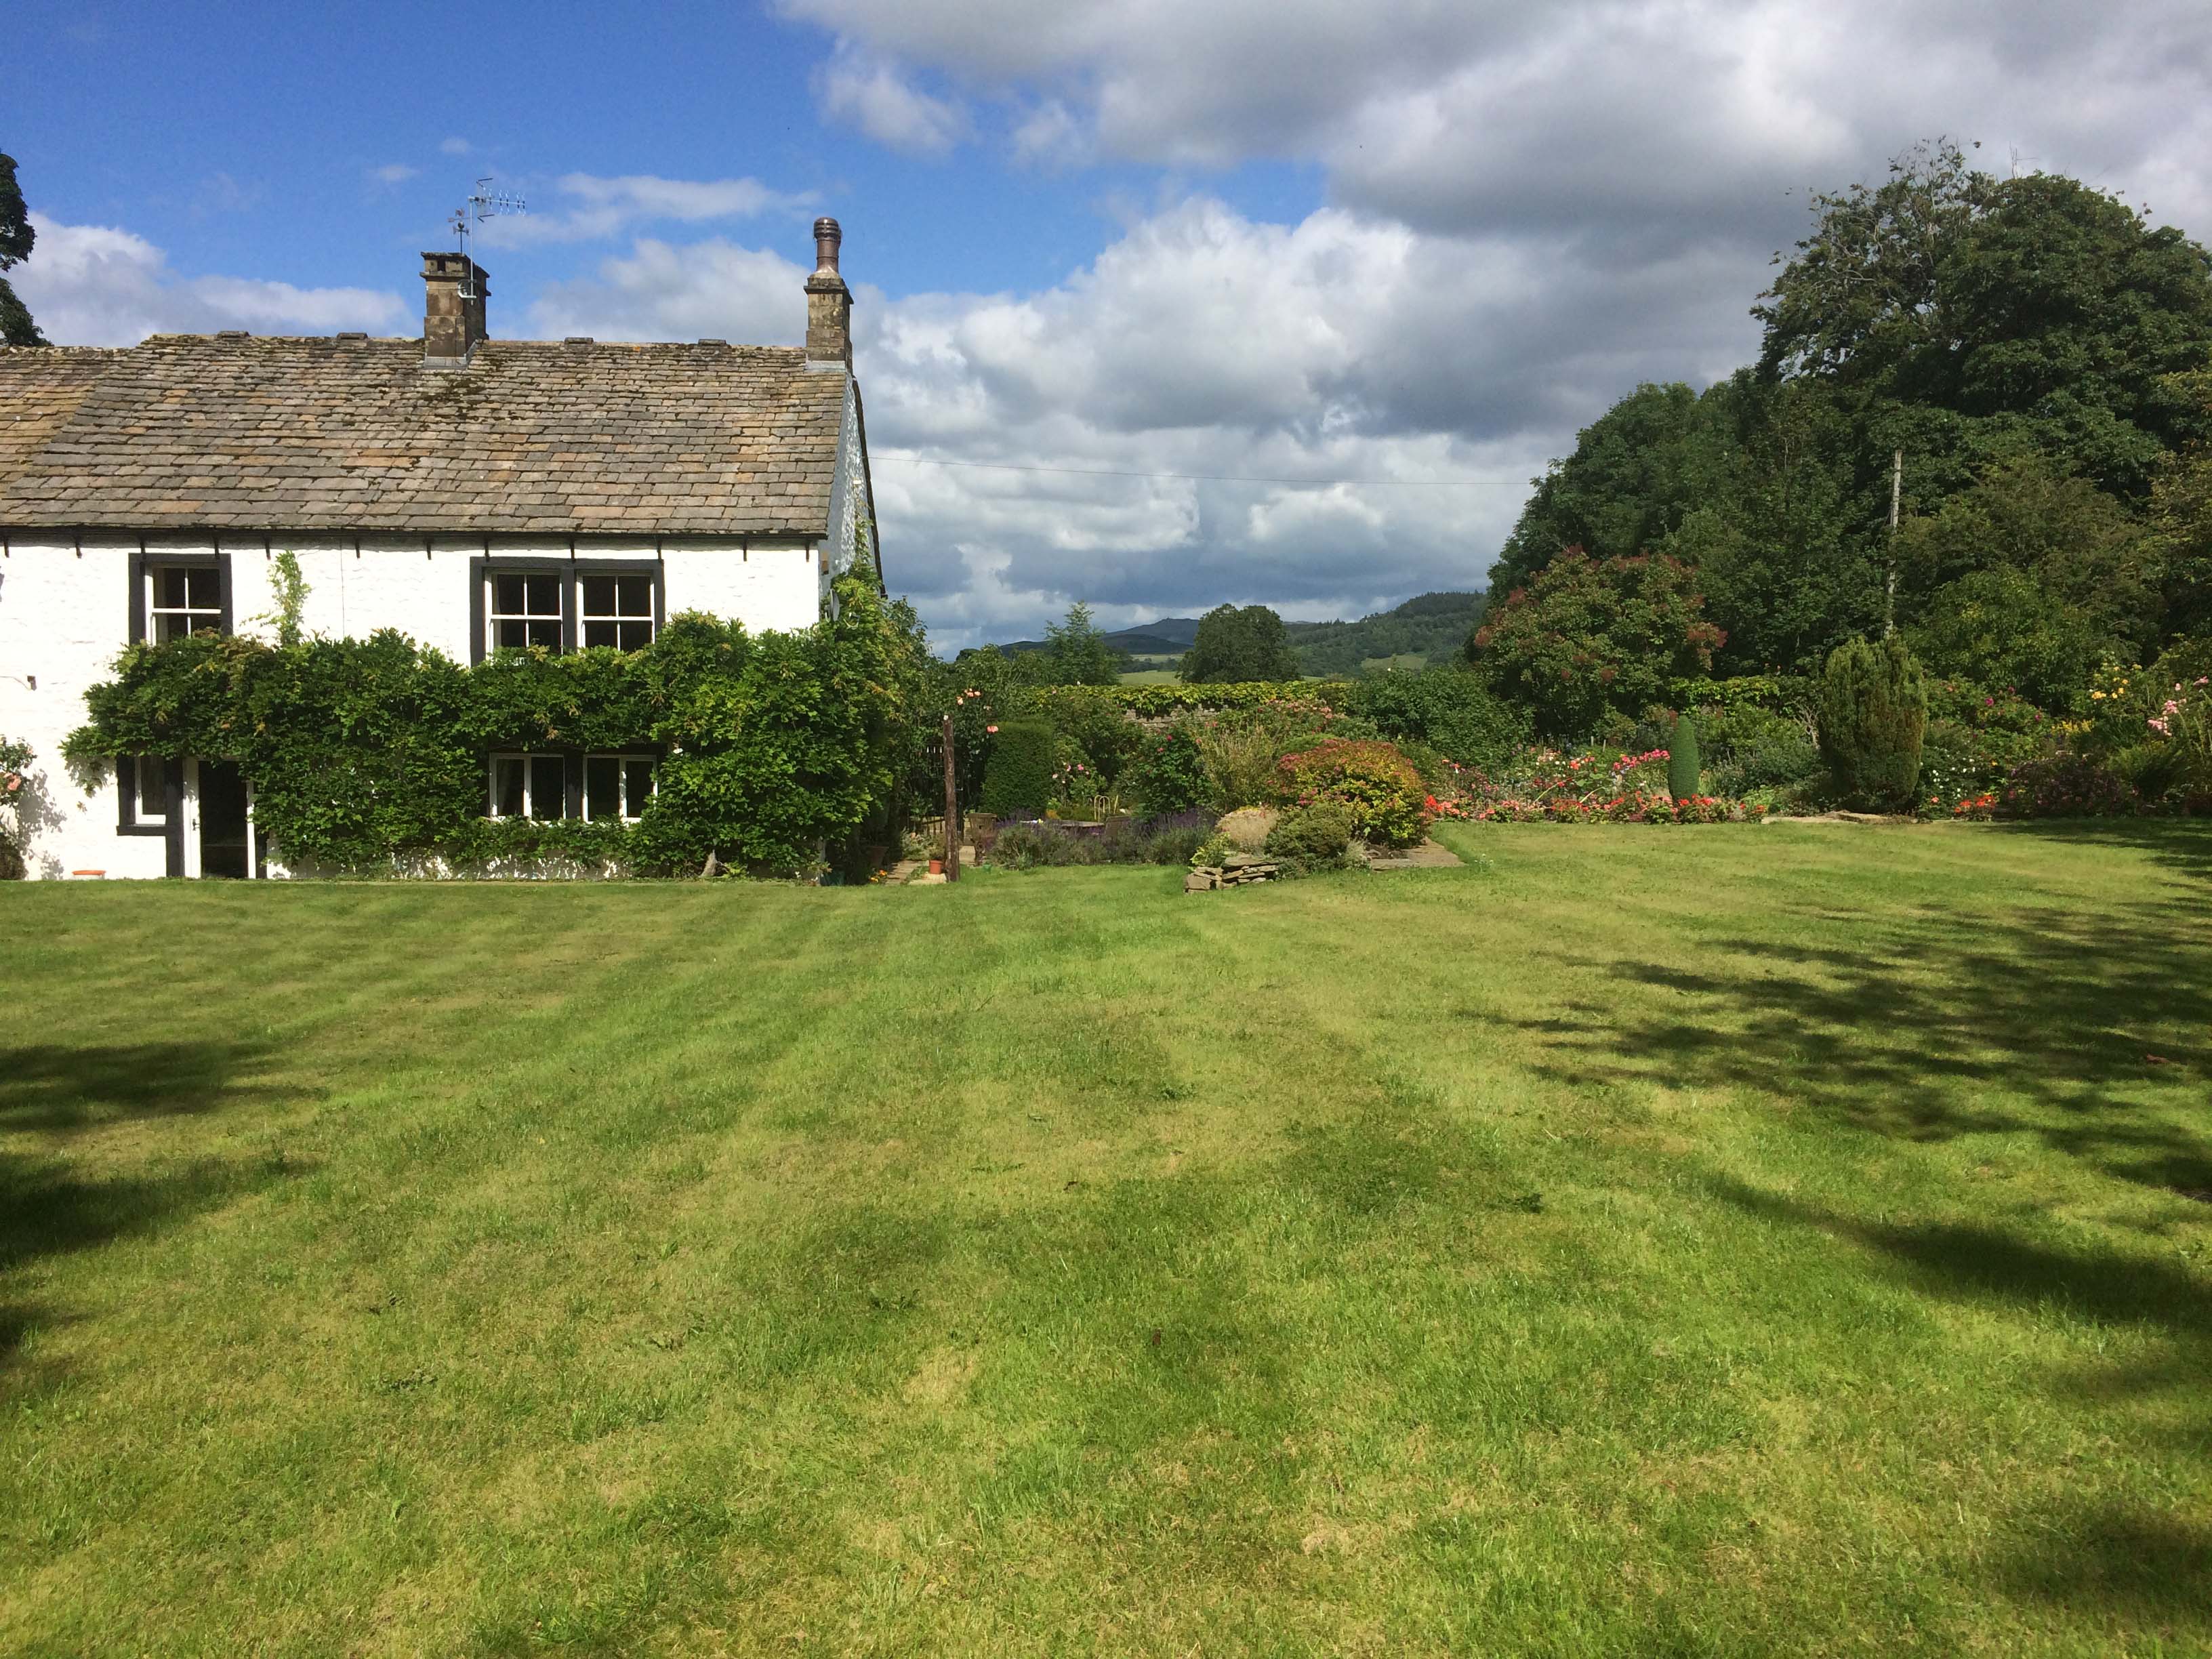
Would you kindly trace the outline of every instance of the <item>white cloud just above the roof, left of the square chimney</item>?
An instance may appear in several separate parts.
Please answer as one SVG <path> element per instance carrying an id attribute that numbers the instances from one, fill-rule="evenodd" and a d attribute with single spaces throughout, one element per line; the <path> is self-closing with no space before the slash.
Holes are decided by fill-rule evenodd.
<path id="1" fill-rule="evenodd" d="M 330 334 L 341 327 L 411 332 L 398 294 L 372 288 L 294 288 L 265 276 L 179 276 L 144 237 L 108 226 L 31 217 L 38 246 L 11 272 L 15 292 L 55 345 L 131 345 L 148 334 Z"/>

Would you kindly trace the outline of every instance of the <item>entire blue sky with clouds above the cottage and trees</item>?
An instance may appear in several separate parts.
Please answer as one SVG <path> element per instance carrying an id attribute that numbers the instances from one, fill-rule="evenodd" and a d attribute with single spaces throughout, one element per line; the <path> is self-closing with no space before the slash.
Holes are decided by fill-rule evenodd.
<path id="1" fill-rule="evenodd" d="M 1575 427 L 1754 349 L 1807 190 L 1922 137 L 2212 230 L 2201 0 L 1986 13 L 95 2 L 11 22 L 0 148 L 64 343 L 414 332 L 480 175 L 531 204 L 495 334 L 794 341 L 836 215 L 894 584 L 953 646 L 1480 586 Z"/>

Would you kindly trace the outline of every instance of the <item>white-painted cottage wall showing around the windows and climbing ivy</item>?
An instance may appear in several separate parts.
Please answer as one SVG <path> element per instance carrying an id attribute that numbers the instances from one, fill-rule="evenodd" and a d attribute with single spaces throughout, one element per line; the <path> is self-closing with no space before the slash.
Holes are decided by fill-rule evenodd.
<path id="1" fill-rule="evenodd" d="M 206 553 L 206 538 L 148 535 L 148 553 Z M 230 613 L 239 633 L 272 635 L 274 551 L 290 546 L 307 577 L 303 622 L 310 633 L 367 637 L 398 628 L 425 646 L 469 661 L 469 560 L 482 540 L 292 538 L 263 546 L 261 538 L 223 538 L 230 555 Z M 166 847 L 159 836 L 119 836 L 115 774 L 71 779 L 62 739 L 84 723 L 84 692 L 108 677 L 131 635 L 131 555 L 139 538 L 73 542 L 9 538 L 0 555 L 0 734 L 29 743 L 35 754 L 22 794 L 27 863 L 33 876 L 161 876 Z M 821 617 L 827 575 L 814 544 L 803 540 L 754 542 L 723 538 L 666 538 L 664 606 L 706 611 L 743 622 L 752 633 L 812 628 Z M 653 557 L 653 538 L 580 540 L 577 557 Z M 542 546 L 495 546 L 502 557 L 568 557 L 566 538 Z M 33 686 L 35 684 L 35 686 Z M 197 863 L 190 834 L 195 799 L 186 803 L 186 867 Z"/>

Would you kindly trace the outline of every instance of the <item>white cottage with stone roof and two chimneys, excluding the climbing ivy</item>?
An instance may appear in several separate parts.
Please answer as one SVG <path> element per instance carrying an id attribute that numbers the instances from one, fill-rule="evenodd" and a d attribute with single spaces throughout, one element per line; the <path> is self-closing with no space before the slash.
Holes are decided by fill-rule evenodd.
<path id="1" fill-rule="evenodd" d="M 0 737 L 29 741 L 33 876 L 263 876 L 226 761 L 73 781 L 62 739 L 126 641 L 254 630 L 274 560 L 310 633 L 460 661 L 644 646 L 679 611 L 805 628 L 880 575 L 838 226 L 805 347 L 495 341 L 487 279 L 422 254 L 422 338 L 157 334 L 0 349 Z M 91 785 L 91 787 L 86 787 Z M 491 757 L 489 814 L 635 816 L 644 757 Z"/>

